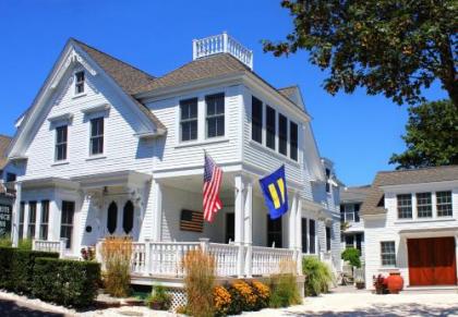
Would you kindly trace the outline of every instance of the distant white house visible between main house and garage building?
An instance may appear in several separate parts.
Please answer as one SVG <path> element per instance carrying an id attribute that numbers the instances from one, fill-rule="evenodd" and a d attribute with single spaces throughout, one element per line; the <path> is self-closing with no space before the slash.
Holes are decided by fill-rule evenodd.
<path id="1" fill-rule="evenodd" d="M 361 205 L 364 202 L 370 185 L 340 187 L 340 221 L 345 223 L 342 230 L 341 248 L 358 248 L 364 259 L 364 220 L 360 217 Z"/>

